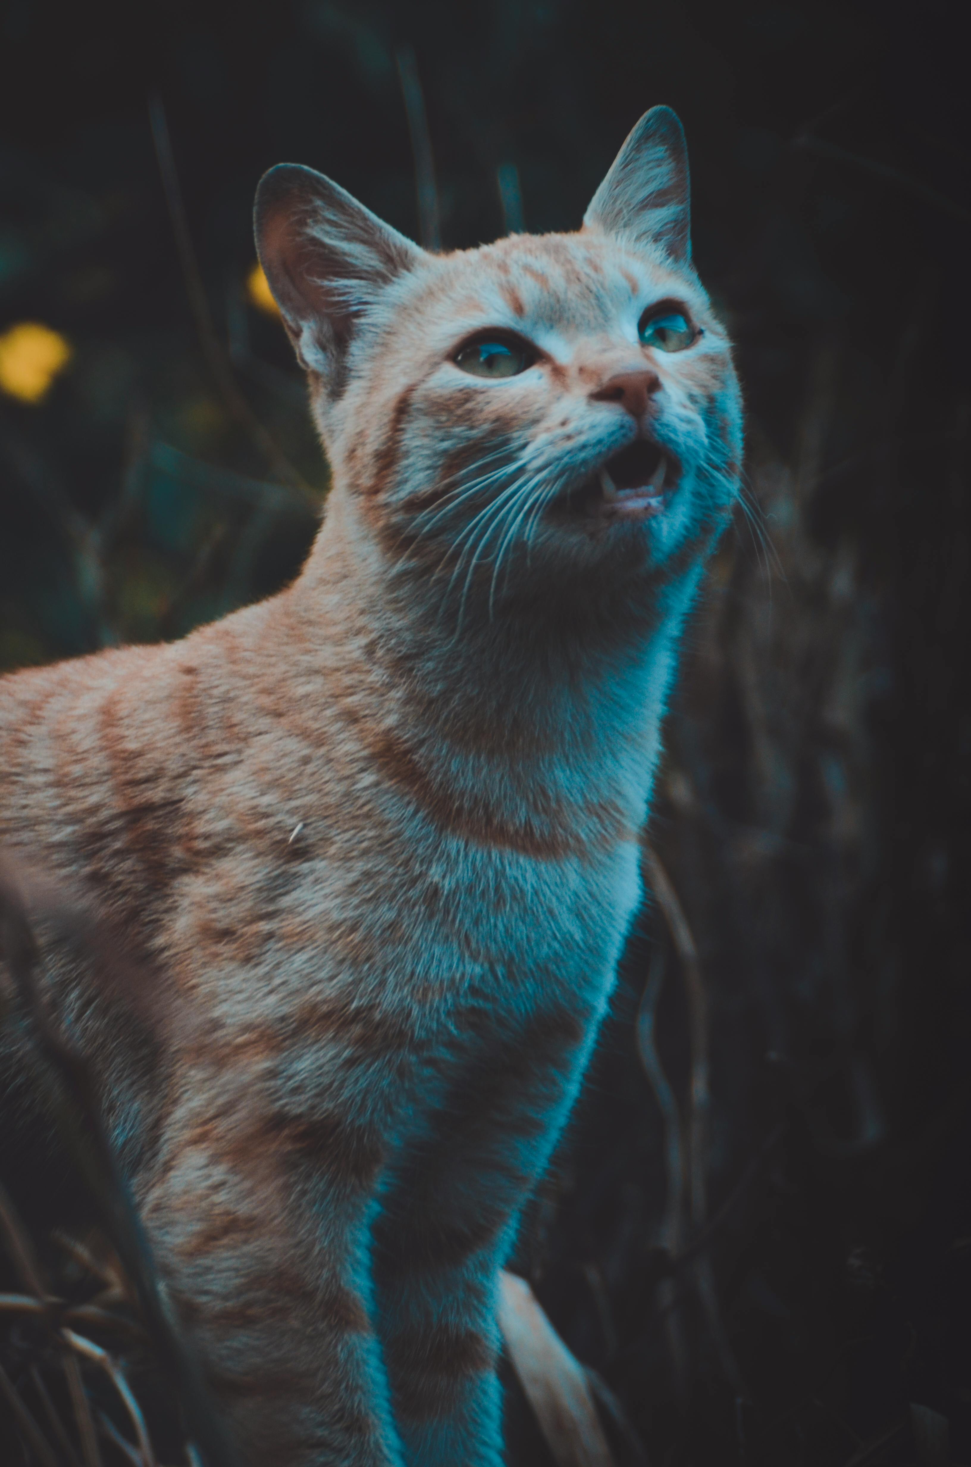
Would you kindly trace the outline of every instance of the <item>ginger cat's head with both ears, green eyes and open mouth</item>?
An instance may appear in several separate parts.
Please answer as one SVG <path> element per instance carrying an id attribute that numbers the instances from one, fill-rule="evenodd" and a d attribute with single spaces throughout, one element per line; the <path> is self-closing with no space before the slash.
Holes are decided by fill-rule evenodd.
<path id="1" fill-rule="evenodd" d="M 736 493 L 741 396 L 691 266 L 678 117 L 634 128 L 572 235 L 428 254 L 280 164 L 257 245 L 355 522 L 444 600 L 666 579 Z"/>

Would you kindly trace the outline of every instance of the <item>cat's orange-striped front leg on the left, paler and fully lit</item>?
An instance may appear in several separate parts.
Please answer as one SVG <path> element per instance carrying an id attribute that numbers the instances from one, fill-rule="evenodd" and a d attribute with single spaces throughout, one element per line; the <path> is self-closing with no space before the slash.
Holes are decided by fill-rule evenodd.
<path id="1" fill-rule="evenodd" d="M 245 1463 L 402 1467 L 370 1317 L 381 1137 L 260 1100 L 183 1075 L 139 1188 L 160 1270 Z"/>

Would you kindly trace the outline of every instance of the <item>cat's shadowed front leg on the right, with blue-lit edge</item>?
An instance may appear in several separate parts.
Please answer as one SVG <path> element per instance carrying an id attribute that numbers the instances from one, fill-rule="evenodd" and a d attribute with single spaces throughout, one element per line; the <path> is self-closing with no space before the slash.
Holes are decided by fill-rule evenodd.
<path id="1" fill-rule="evenodd" d="M 505 1031 L 493 1020 L 389 1185 L 377 1328 L 409 1467 L 503 1461 L 499 1269 L 576 1093 L 596 1006 L 571 995 Z"/>

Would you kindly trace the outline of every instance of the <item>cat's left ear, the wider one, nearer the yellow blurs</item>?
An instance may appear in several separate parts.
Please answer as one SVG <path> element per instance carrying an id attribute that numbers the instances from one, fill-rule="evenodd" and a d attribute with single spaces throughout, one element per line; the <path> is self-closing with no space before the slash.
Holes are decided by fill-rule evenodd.
<path id="1" fill-rule="evenodd" d="M 298 361 L 339 392 L 358 317 L 422 251 L 298 163 L 280 163 L 260 179 L 254 230 Z"/>

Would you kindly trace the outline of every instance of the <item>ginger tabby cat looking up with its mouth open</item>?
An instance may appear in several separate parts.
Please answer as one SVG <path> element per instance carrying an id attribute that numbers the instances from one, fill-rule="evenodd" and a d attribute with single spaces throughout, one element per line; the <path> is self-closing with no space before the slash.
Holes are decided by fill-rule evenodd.
<path id="1" fill-rule="evenodd" d="M 280 164 L 255 235 L 320 535 L 182 641 L 4 679 L 0 844 L 175 986 L 153 1049 L 57 977 L 245 1460 L 499 1467 L 497 1276 L 641 902 L 739 386 L 666 107 L 576 233 L 428 254 Z"/>

